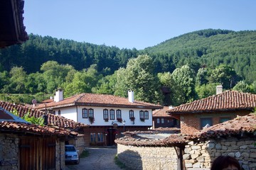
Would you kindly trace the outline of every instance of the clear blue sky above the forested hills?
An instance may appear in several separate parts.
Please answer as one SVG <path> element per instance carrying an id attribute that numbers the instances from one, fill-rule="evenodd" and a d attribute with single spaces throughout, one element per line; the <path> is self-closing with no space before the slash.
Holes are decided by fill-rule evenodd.
<path id="1" fill-rule="evenodd" d="M 27 33 L 142 50 L 194 30 L 256 30 L 255 0 L 25 0 Z"/>

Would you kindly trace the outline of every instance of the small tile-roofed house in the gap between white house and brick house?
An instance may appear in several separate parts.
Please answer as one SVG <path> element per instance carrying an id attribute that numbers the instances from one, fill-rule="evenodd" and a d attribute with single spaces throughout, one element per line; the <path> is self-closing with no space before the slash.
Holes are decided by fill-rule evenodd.
<path id="1" fill-rule="evenodd" d="M 167 114 L 171 106 L 153 111 L 153 129 L 154 128 L 179 128 L 179 120 Z"/>

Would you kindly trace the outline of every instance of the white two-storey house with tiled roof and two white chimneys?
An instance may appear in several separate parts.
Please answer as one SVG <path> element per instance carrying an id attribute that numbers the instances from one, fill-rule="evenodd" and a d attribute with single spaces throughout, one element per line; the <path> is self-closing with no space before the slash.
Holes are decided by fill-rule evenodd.
<path id="1" fill-rule="evenodd" d="M 47 109 L 78 123 L 90 125 L 85 130 L 86 143 L 90 145 L 114 145 L 120 132 L 147 130 L 152 126 L 152 111 L 159 105 L 134 101 L 133 91 L 128 98 L 105 94 L 78 94 L 63 98 L 63 91 L 57 90 L 53 101 L 34 107 Z"/>

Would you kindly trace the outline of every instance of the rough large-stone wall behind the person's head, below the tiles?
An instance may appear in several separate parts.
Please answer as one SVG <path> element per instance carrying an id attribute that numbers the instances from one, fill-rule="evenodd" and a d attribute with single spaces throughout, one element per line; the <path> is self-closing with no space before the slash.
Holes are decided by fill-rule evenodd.
<path id="1" fill-rule="evenodd" d="M 188 170 L 208 170 L 216 157 L 229 155 L 238 159 L 243 169 L 256 170 L 255 142 L 256 137 L 227 137 L 206 142 L 188 142 L 183 160 Z"/>

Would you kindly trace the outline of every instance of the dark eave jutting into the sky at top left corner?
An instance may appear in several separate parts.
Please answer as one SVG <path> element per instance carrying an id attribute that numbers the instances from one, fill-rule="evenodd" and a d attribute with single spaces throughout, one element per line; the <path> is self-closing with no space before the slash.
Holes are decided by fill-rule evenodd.
<path id="1" fill-rule="evenodd" d="M 28 40 L 23 26 L 23 0 L 0 1 L 0 48 Z"/>

